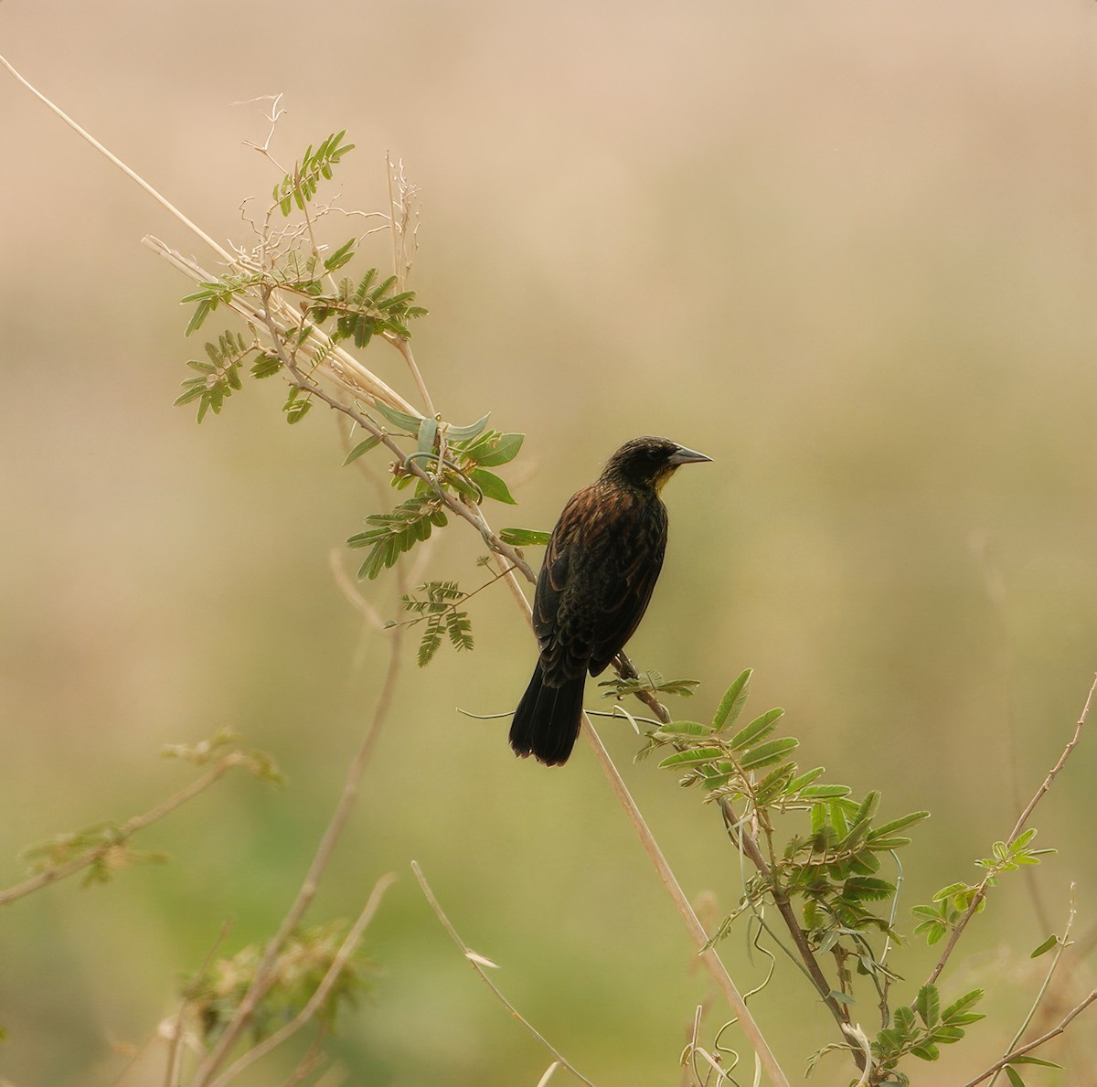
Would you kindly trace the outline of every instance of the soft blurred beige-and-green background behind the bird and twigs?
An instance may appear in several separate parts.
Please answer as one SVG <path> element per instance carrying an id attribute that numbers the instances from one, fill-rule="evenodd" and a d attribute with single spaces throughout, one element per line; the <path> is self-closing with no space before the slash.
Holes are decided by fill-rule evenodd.
<path id="1" fill-rule="evenodd" d="M 496 525 L 551 528 L 637 433 L 711 454 L 666 494 L 632 656 L 701 680 L 672 704 L 688 717 L 755 668 L 750 709 L 787 709 L 803 766 L 882 790 L 885 817 L 930 809 L 905 851 L 911 932 L 907 907 L 976 879 L 1009 833 L 1097 668 L 1095 20 L 1083 0 L 8 0 L 0 42 L 223 244 L 278 180 L 244 143 L 267 135 L 257 95 L 285 95 L 287 165 L 348 129 L 344 207 L 384 208 L 385 151 L 402 158 L 422 190 L 411 286 L 434 400 L 528 435 Z M 201 428 L 173 408 L 202 338 L 182 335 L 189 282 L 140 238 L 212 258 L 7 73 L 0 141 L 0 882 L 27 842 L 181 788 L 166 743 L 228 726 L 290 779 L 230 777 L 159 824 L 137 845 L 166 867 L 3 912 L 0 1077 L 108 1084 L 139 1050 L 159 1083 L 180 978 L 227 917 L 226 952 L 273 931 L 371 717 L 386 639 L 329 553 L 378 499 L 340 469 L 327 412 L 284 424 L 274 382 Z M 395 351 L 367 362 L 414 396 Z M 454 526 L 426 576 L 471 588 L 480 551 Z M 396 613 L 392 575 L 364 591 Z M 456 712 L 508 711 L 533 661 L 505 591 L 474 603 L 471 656 L 419 672 L 409 641 L 310 914 L 354 916 L 399 876 L 326 1083 L 532 1085 L 550 1063 L 461 961 L 412 859 L 585 1075 L 677 1083 L 708 982 L 586 745 L 546 770 L 513 759 L 505 720 Z M 602 732 L 687 892 L 726 913 L 738 869 L 715 814 L 633 766 L 625 727 Z M 992 1019 L 917 1084 L 954 1087 L 1005 1050 L 1072 882 L 1076 932 L 1095 931 L 1095 771 L 1087 738 L 1033 820 L 1059 854 L 1004 882 L 942 982 L 987 988 Z M 742 932 L 722 950 L 742 988 L 761 978 Z M 913 996 L 935 955 L 904 955 Z M 1093 987 L 1093 955 L 1063 972 L 1052 1022 Z M 836 1041 L 784 962 L 756 1015 L 794 1082 Z M 874 1023 L 869 996 L 856 1018 Z M 1041 1083 L 1094 1082 L 1092 1010 L 1072 1033 L 1044 1054 L 1072 1071 Z M 245 1082 L 281 1083 L 296 1055 Z M 847 1083 L 829 1060 L 813 1082 Z"/>

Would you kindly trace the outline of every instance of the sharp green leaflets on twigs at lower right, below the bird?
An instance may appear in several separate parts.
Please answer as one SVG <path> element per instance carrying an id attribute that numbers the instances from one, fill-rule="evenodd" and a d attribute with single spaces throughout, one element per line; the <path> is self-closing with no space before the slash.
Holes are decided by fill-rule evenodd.
<path id="1" fill-rule="evenodd" d="M 897 864 L 898 850 L 911 841 L 905 831 L 928 813 L 878 823 L 879 792 L 858 801 L 846 785 L 824 783 L 822 767 L 802 772 L 790 758 L 799 741 L 791 736 L 774 738 L 781 710 L 770 710 L 733 732 L 750 677 L 749 669 L 738 676 L 711 722 L 675 721 L 653 729 L 638 757 L 674 748 L 659 767 L 679 773 L 680 785 L 699 788 L 706 803 L 720 807 L 732 841 L 754 862 L 742 901 L 719 926 L 713 941 L 726 937 L 743 914 L 758 918 L 771 931 L 765 917 L 767 906 L 776 907 L 791 926 L 819 995 L 850 1037 L 859 1030 L 848 1011 L 858 1000 L 856 978 L 871 984 L 881 1026 L 874 1040 L 864 1040 L 871 1053 L 864 1083 L 906 1087 L 908 1073 L 900 1069 L 904 1058 L 936 1061 L 941 1045 L 960 1041 L 966 1028 L 983 1018 L 973 1010 L 982 989 L 963 994 L 943 1010 L 932 983 L 923 985 L 909 1004 L 892 998 L 892 987 L 902 978 L 887 956 L 902 938 L 894 926 L 896 884 L 880 875 L 882 860 L 891 857 Z M 785 827 L 790 818 L 792 826 Z M 979 862 L 987 871 L 981 884 L 953 884 L 935 898 L 937 907 L 915 907 L 915 915 L 923 918 L 916 931 L 927 932 L 930 942 L 940 939 L 976 893 L 993 885 L 1002 872 L 1037 863 L 1048 850 L 1031 849 L 1033 835 L 1027 831 L 1010 843 L 997 842 L 993 857 Z M 799 917 L 791 908 L 795 903 Z M 832 962 L 829 981 L 822 956 Z M 819 1056 L 835 1050 L 858 1052 L 848 1041 L 827 1045 L 808 1062 L 808 1072 Z M 866 1063 L 862 1057 L 862 1067 Z"/>

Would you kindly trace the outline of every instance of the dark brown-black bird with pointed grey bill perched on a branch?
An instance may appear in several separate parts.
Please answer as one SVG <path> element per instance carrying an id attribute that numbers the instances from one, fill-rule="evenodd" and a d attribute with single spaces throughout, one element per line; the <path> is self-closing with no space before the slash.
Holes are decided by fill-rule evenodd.
<path id="1" fill-rule="evenodd" d="M 624 648 L 663 568 L 668 519 L 659 492 L 681 465 L 711 460 L 668 438 L 634 438 L 564 507 L 533 593 L 541 653 L 510 726 L 516 755 L 567 761 L 587 672 L 598 676 Z"/>

